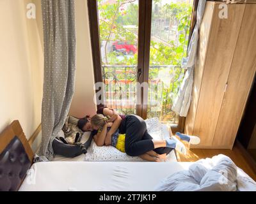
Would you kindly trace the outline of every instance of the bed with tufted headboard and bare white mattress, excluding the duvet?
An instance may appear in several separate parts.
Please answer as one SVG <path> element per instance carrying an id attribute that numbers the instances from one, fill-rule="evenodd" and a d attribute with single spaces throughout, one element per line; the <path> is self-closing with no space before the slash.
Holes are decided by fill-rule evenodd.
<path id="1" fill-rule="evenodd" d="M 32 161 L 33 152 L 16 120 L 0 134 L 1 191 L 153 191 L 162 179 L 193 164 Z M 238 173 L 250 179 L 242 170 Z"/>

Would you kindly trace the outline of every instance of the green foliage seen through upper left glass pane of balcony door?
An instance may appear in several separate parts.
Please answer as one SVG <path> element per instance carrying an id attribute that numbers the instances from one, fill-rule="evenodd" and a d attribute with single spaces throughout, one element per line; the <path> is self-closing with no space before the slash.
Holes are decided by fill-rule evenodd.
<path id="1" fill-rule="evenodd" d="M 134 1 L 116 0 L 115 4 L 104 4 L 102 0 L 98 0 L 100 41 L 129 41 L 132 45 L 138 44 L 138 4 L 132 4 Z M 127 9 L 122 10 L 122 6 L 127 6 Z M 126 29 L 125 25 L 136 27 Z M 137 61 L 136 56 L 132 57 L 134 60 L 124 56 L 120 61 L 111 52 L 106 52 L 106 55 L 106 64 L 130 64 Z"/>

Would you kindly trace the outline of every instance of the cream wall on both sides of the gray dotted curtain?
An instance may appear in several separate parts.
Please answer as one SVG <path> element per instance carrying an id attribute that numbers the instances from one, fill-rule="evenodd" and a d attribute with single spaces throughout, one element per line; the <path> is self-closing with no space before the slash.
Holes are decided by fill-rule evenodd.
<path id="1" fill-rule="evenodd" d="M 36 4 L 36 19 L 26 5 Z M 86 0 L 76 0 L 77 71 L 70 114 L 96 112 L 93 61 Z M 18 119 L 27 138 L 41 122 L 44 39 L 40 0 L 0 0 L 0 132 Z"/>

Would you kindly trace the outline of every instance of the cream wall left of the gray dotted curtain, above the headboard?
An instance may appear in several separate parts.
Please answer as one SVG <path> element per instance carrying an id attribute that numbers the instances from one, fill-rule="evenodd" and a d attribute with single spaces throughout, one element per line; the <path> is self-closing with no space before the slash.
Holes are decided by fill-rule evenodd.
<path id="1" fill-rule="evenodd" d="M 41 121 L 43 53 L 27 0 L 0 1 L 0 132 L 18 119 L 27 138 Z M 37 13 L 40 15 L 40 13 Z"/>

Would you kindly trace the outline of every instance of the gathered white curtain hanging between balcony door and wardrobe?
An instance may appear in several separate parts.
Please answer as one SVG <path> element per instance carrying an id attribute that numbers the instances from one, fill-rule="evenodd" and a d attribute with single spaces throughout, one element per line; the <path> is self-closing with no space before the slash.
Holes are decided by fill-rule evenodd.
<path id="1" fill-rule="evenodd" d="M 206 0 L 199 0 L 198 8 L 196 11 L 196 24 L 191 40 L 188 47 L 188 57 L 182 60 L 182 68 L 186 69 L 186 74 L 180 85 L 180 89 L 177 98 L 173 101 L 172 110 L 182 117 L 186 117 L 188 114 L 191 93 L 194 82 L 194 64 L 196 59 L 196 50 L 198 43 L 199 28 L 202 22 L 202 17 L 204 15 Z"/>

